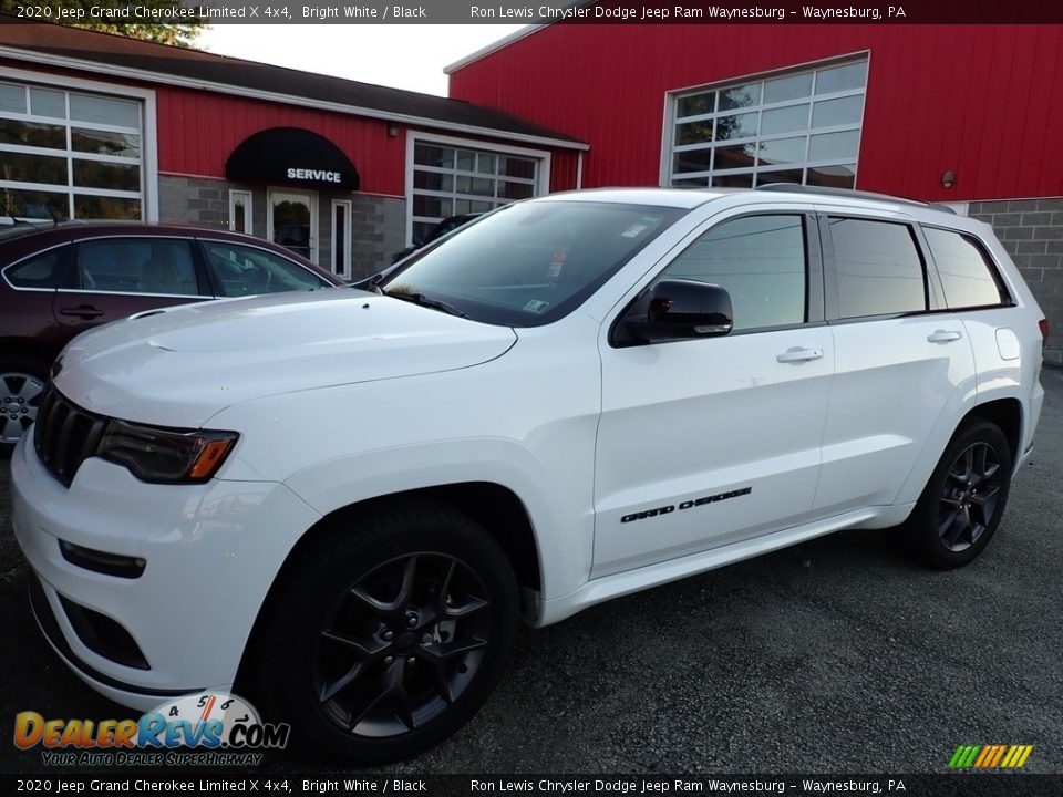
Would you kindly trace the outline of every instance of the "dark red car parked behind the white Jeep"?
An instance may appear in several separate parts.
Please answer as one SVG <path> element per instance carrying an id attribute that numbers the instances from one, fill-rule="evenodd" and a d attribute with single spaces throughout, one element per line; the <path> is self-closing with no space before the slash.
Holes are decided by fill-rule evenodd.
<path id="1" fill-rule="evenodd" d="M 48 368 L 79 332 L 155 308 L 343 281 L 250 236 L 167 225 L 0 228 L 0 454 L 33 423 Z"/>

